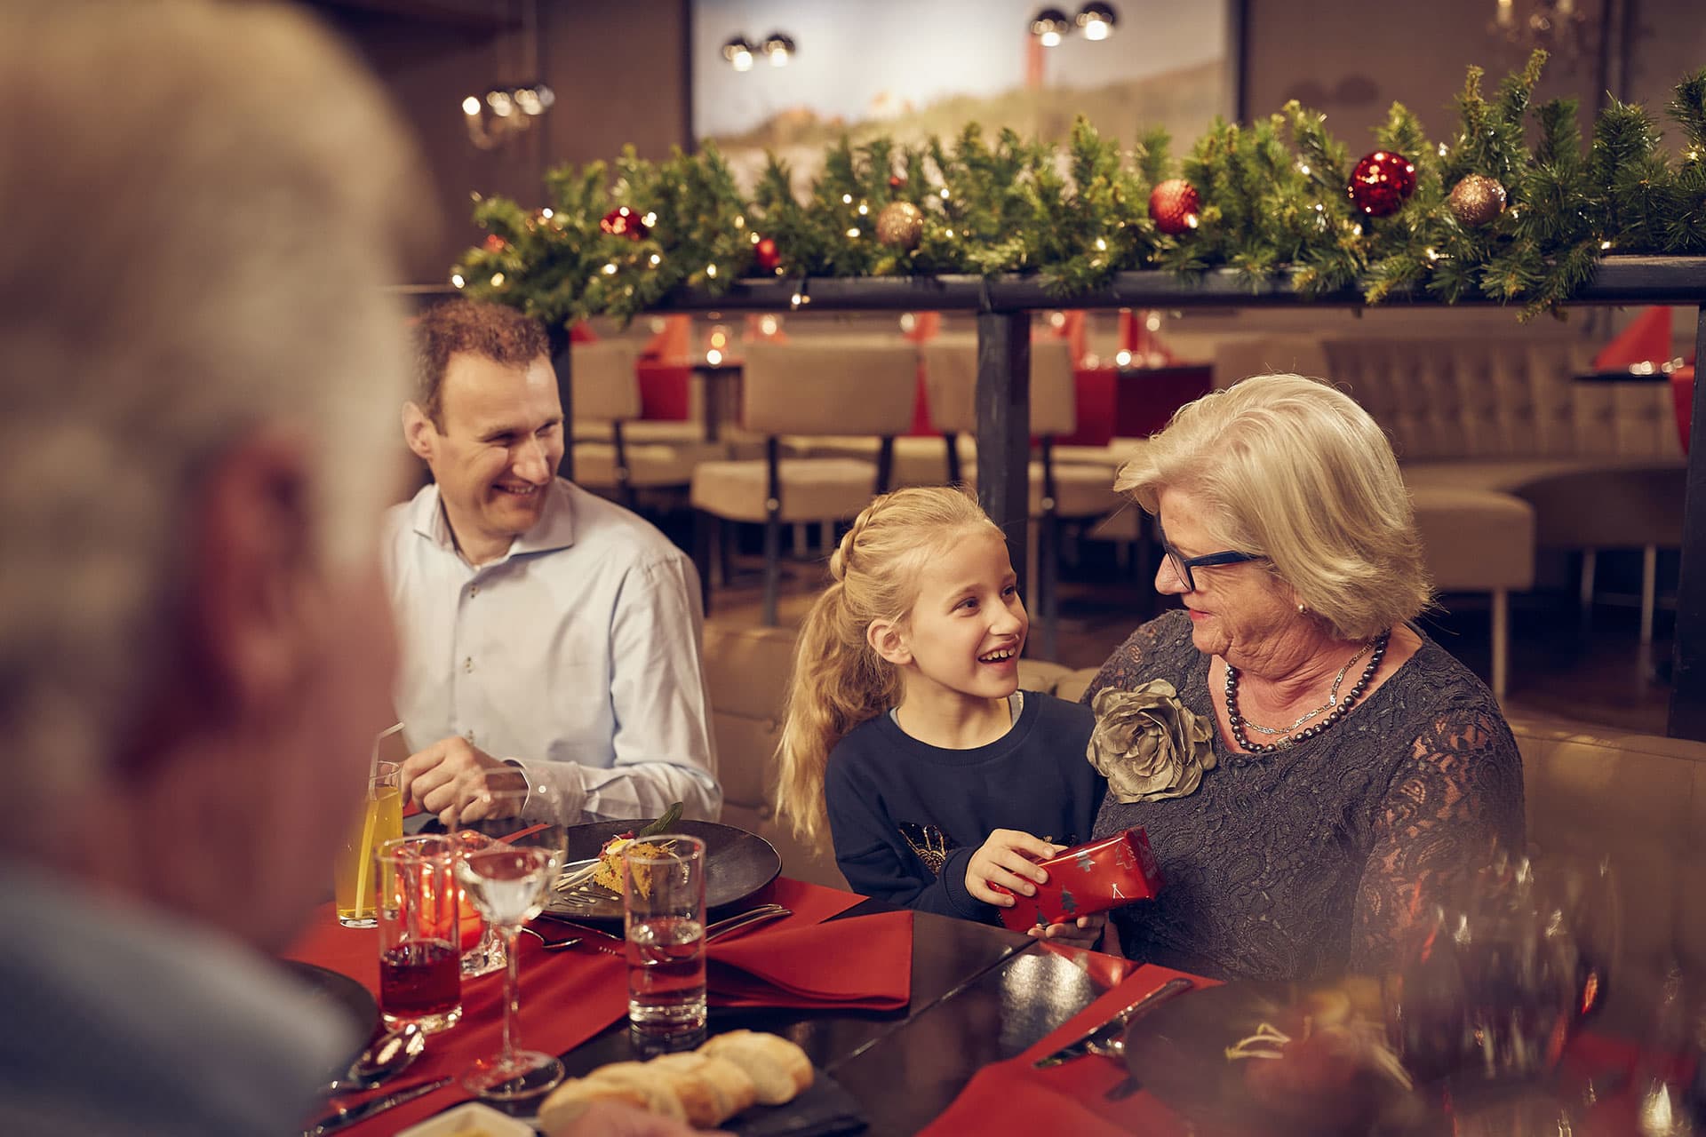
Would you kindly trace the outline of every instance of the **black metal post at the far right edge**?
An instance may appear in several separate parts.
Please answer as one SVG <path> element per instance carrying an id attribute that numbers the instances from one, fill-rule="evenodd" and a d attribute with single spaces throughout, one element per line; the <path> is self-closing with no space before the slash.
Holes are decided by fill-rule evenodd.
<path id="1" fill-rule="evenodd" d="M 1694 407 L 1689 426 L 1687 496 L 1682 503 L 1682 564 L 1672 648 L 1672 738 L 1706 740 L 1706 303 L 1694 327 Z"/>

